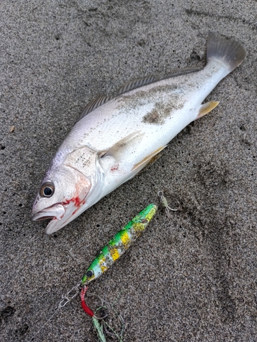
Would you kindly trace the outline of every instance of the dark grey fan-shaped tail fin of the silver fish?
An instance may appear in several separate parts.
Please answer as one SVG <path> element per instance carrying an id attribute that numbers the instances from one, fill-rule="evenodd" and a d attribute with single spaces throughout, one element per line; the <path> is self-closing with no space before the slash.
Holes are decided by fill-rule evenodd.
<path id="1" fill-rule="evenodd" d="M 226 38 L 211 32 L 207 42 L 207 63 L 211 60 L 221 62 L 230 73 L 245 59 L 246 51 L 242 42 L 236 38 Z"/>

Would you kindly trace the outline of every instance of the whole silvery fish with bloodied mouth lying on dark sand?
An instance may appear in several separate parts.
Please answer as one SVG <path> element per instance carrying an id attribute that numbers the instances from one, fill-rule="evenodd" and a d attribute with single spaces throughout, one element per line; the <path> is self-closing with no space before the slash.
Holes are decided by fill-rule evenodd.
<path id="1" fill-rule="evenodd" d="M 57 150 L 32 208 L 51 234 L 132 179 L 190 122 L 218 105 L 203 103 L 245 59 L 243 43 L 210 33 L 206 66 L 129 81 L 89 103 Z"/>

